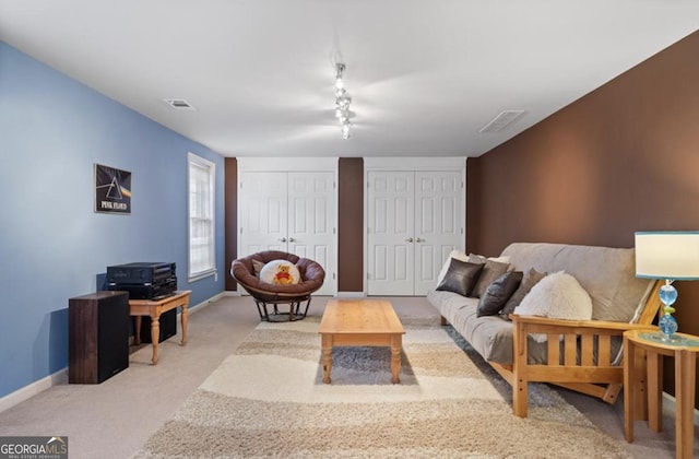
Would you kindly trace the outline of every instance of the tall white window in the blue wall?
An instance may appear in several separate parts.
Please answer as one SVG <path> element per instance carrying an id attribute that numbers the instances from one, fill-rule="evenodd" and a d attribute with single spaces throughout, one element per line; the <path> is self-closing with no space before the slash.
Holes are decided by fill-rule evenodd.
<path id="1" fill-rule="evenodd" d="M 214 163 L 189 153 L 189 281 L 216 273 L 214 256 L 215 166 Z"/>

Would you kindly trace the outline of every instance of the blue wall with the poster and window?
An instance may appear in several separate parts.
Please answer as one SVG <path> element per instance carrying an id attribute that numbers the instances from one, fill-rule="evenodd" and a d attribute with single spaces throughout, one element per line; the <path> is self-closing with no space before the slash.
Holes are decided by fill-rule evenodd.
<path id="1" fill-rule="evenodd" d="M 68 299 L 107 266 L 175 261 L 191 305 L 223 292 L 224 158 L 0 42 L 0 398 L 68 366 Z M 187 153 L 216 164 L 216 267 L 187 282 Z M 94 164 L 132 173 L 95 213 Z"/>

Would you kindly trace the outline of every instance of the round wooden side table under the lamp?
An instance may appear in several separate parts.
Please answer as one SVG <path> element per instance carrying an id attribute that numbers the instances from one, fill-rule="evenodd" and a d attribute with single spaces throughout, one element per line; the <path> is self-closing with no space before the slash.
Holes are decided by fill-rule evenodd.
<path id="1" fill-rule="evenodd" d="M 624 434 L 633 442 L 636 401 L 636 352 L 645 351 L 648 370 L 648 425 L 662 432 L 663 356 L 675 357 L 675 457 L 692 458 L 695 439 L 695 382 L 699 337 L 676 333 L 678 343 L 653 339 L 657 330 L 629 330 L 624 332 Z"/>

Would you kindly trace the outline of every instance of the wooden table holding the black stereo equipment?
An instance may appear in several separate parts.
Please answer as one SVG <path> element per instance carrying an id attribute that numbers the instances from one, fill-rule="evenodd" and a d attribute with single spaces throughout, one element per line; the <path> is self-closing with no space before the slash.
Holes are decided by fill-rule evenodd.
<path id="1" fill-rule="evenodd" d="M 157 365 L 158 354 L 157 346 L 161 340 L 161 314 L 167 313 L 170 309 L 175 309 L 178 306 L 182 307 L 181 321 L 182 321 L 182 341 L 181 345 L 187 344 L 187 321 L 188 321 L 188 307 L 189 295 L 191 290 L 175 292 L 171 296 L 166 296 L 162 299 L 129 299 L 129 314 L 135 316 L 135 332 L 134 342 L 141 343 L 141 317 L 151 316 L 151 342 L 153 343 L 153 365 Z"/>

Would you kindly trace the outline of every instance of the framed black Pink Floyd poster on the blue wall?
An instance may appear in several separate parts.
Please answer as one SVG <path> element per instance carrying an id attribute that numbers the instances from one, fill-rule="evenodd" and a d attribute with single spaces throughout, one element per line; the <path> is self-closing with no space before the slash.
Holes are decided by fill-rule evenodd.
<path id="1" fill-rule="evenodd" d="M 95 212 L 131 213 L 131 173 L 95 164 Z"/>

